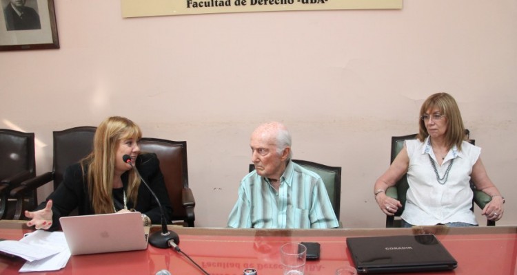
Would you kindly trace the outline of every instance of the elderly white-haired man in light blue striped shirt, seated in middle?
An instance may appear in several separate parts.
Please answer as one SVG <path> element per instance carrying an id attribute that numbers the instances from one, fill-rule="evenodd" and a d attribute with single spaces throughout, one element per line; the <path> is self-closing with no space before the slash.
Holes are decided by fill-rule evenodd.
<path id="1" fill-rule="evenodd" d="M 239 187 L 230 228 L 337 228 L 325 184 L 291 160 L 291 135 L 279 122 L 262 124 L 250 140 L 255 170 Z"/>

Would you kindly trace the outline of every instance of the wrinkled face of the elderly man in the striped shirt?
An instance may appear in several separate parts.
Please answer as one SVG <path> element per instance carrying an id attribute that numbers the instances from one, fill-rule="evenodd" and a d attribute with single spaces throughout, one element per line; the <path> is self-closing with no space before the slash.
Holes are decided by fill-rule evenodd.
<path id="1" fill-rule="evenodd" d="M 256 173 L 262 177 L 279 179 L 285 170 L 285 160 L 290 148 L 285 148 L 279 155 L 276 152 L 275 137 L 267 133 L 253 133 L 250 147 Z"/>

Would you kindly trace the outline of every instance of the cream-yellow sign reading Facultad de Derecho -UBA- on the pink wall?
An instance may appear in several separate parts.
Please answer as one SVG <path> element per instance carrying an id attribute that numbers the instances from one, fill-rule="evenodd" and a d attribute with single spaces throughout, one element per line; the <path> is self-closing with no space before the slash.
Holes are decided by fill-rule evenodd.
<path id="1" fill-rule="evenodd" d="M 403 0 L 121 0 L 122 17 L 276 12 L 292 10 L 401 9 Z"/>

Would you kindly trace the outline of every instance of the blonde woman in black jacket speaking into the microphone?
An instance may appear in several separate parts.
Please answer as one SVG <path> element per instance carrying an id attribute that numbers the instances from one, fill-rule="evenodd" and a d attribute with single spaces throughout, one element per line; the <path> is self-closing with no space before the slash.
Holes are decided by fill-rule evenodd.
<path id="1" fill-rule="evenodd" d="M 105 119 L 95 131 L 92 153 L 67 168 L 63 181 L 44 203 L 33 212 L 25 212 L 30 218 L 27 225 L 57 230 L 59 218 L 68 216 L 75 208 L 80 215 L 134 210 L 141 212 L 143 223 L 161 223 L 158 203 L 131 165 L 124 162 L 124 155 L 131 157 L 132 165 L 158 196 L 169 221 L 172 208 L 159 159 L 154 153 L 141 154 L 141 136 L 140 127 L 127 118 Z"/>

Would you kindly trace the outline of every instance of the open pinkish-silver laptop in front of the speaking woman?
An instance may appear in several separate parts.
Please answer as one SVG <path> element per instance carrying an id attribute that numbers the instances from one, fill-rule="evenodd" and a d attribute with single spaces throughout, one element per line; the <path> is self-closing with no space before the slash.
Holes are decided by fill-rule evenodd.
<path id="1" fill-rule="evenodd" d="M 59 221 L 72 255 L 148 247 L 148 232 L 139 212 L 61 217 Z"/>

